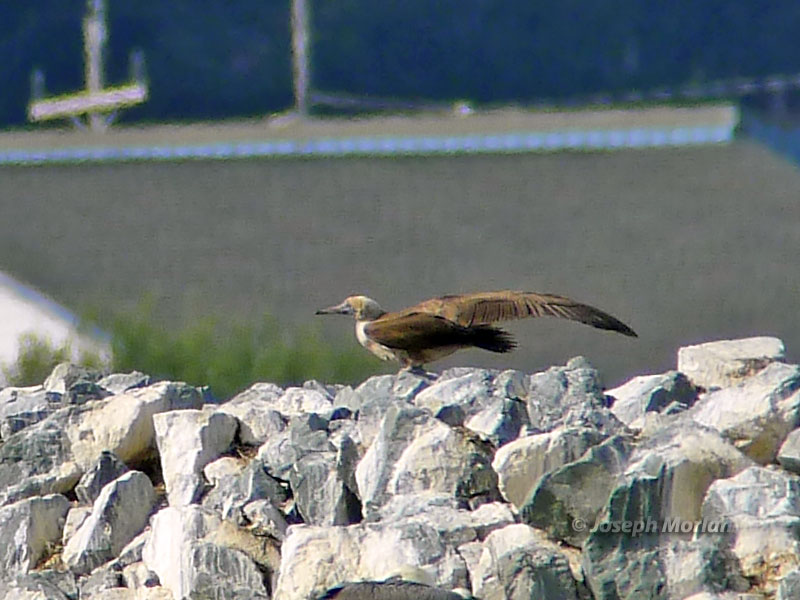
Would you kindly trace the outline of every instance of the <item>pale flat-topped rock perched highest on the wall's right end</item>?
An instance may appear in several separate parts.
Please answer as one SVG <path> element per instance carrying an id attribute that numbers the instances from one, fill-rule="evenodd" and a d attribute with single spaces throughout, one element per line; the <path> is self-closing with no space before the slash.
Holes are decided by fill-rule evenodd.
<path id="1" fill-rule="evenodd" d="M 678 371 L 695 385 L 711 390 L 737 385 L 784 358 L 783 342 L 778 338 L 722 340 L 679 349 Z"/>

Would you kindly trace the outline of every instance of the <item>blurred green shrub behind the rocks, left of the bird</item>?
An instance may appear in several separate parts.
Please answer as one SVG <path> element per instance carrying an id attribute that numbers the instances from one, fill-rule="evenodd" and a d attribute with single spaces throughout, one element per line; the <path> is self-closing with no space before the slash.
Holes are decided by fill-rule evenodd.
<path id="1" fill-rule="evenodd" d="M 151 304 L 143 303 L 114 317 L 105 329 L 111 335 L 115 372 L 136 369 L 208 385 L 223 399 L 256 381 L 357 383 L 380 370 L 380 361 L 354 344 L 331 345 L 314 328 L 289 332 L 271 317 L 254 325 L 206 317 L 167 330 L 152 317 Z"/>

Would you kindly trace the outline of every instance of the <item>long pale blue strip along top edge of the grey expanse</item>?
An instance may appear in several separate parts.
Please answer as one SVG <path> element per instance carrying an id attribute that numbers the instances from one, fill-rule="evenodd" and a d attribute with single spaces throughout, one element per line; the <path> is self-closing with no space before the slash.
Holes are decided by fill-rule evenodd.
<path id="1" fill-rule="evenodd" d="M 169 161 L 185 159 L 417 156 L 617 150 L 722 144 L 733 125 L 609 130 L 563 130 L 458 136 L 360 136 L 211 144 L 85 146 L 46 150 L 2 150 L 0 165 Z"/>

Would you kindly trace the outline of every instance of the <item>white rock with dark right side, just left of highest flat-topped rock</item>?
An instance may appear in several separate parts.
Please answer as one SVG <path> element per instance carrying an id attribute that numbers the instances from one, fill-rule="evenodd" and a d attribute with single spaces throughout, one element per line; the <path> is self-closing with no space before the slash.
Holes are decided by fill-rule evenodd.
<path id="1" fill-rule="evenodd" d="M 636 429 L 642 428 L 634 424 L 640 422 L 645 413 L 684 410 L 695 403 L 697 394 L 697 388 L 678 371 L 634 377 L 606 391 L 606 395 L 614 398 L 611 412 L 625 425 Z"/>

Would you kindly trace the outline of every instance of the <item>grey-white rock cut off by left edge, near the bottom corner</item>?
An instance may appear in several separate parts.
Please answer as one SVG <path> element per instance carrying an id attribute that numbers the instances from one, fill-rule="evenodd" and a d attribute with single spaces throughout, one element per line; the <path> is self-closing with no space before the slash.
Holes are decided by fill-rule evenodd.
<path id="1" fill-rule="evenodd" d="M 0 508 L 0 580 L 30 571 L 60 541 L 67 510 L 59 494 Z"/>

